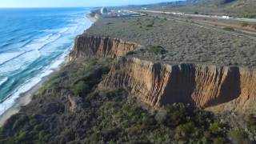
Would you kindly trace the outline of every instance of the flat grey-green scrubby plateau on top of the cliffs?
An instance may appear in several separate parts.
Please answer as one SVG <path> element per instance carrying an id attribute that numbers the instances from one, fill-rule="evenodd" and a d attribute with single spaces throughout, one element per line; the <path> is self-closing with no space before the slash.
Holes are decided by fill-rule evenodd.
<path id="1" fill-rule="evenodd" d="M 146 47 L 134 56 L 152 61 L 256 67 L 255 37 L 193 22 L 150 16 L 102 18 L 86 34 L 138 42 Z"/>

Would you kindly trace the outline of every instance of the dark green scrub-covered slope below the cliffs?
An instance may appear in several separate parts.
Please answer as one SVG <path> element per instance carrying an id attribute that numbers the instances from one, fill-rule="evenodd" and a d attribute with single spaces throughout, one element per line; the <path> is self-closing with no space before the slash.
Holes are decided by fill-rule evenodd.
<path id="1" fill-rule="evenodd" d="M 6 122 L 0 143 L 252 142 L 244 130 L 189 104 L 150 110 L 125 88 L 98 89 L 111 62 L 103 58 L 65 66 Z M 254 117 L 246 120 L 254 132 L 255 123 Z"/>

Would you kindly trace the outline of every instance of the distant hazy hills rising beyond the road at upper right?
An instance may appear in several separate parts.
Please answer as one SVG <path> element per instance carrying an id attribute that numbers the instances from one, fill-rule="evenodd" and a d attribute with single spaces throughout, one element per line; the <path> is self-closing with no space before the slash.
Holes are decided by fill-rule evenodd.
<path id="1" fill-rule="evenodd" d="M 238 17 L 256 18 L 256 0 L 186 0 L 162 2 L 153 5 L 129 6 L 129 8 L 147 7 L 153 10 L 181 11 L 194 13 L 229 14 Z"/>

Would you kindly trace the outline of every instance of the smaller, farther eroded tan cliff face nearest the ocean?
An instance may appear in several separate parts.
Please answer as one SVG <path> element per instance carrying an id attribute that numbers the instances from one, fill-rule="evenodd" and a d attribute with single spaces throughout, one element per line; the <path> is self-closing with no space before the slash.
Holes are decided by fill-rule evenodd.
<path id="1" fill-rule="evenodd" d="M 138 48 L 134 42 L 124 42 L 119 38 L 97 37 L 87 34 L 78 35 L 74 42 L 74 51 L 70 59 L 91 56 L 108 56 L 115 58 L 123 56 Z"/>

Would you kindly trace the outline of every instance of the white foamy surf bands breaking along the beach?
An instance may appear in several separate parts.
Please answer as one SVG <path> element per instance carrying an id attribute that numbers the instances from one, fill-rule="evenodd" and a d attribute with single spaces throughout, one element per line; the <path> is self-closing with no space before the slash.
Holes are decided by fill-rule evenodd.
<path id="1" fill-rule="evenodd" d="M 42 81 L 42 78 L 56 70 L 58 66 L 65 61 L 66 55 L 69 54 L 70 49 L 73 47 L 73 44 L 70 46 L 68 43 L 74 42 L 74 37 L 77 34 L 81 34 L 83 30 L 89 28 L 90 25 L 91 22 L 82 17 L 74 21 L 73 25 L 56 29 L 55 31 L 46 30 L 46 32 L 50 32 L 50 34 L 30 42 L 24 47 L 24 49 L 22 49 L 28 52 L 22 54 L 18 58 L 14 58 L 10 63 L 0 66 L 1 76 L 1 74 L 13 73 L 14 70 L 25 69 L 30 62 L 34 62 L 37 58 L 42 57 L 42 54 L 47 54 L 44 56 L 48 56 L 48 54 L 50 55 L 56 52 L 62 52 L 61 56 L 55 58 L 54 62 L 51 62 L 51 64 L 46 66 L 43 70 L 38 71 L 38 74 L 35 77 L 26 80 L 26 82 L 21 86 L 18 86 L 4 102 L 0 103 L 0 115 L 14 105 L 20 94 L 26 93 L 26 91 L 30 90 L 33 86 L 38 84 L 38 82 Z M 70 47 L 65 48 L 63 46 Z"/>

